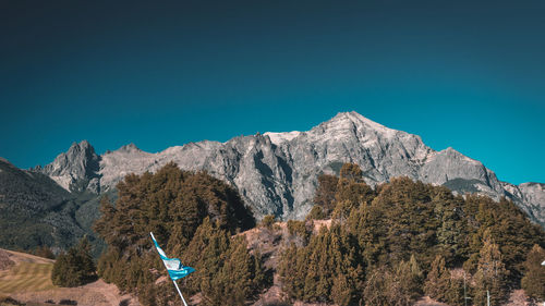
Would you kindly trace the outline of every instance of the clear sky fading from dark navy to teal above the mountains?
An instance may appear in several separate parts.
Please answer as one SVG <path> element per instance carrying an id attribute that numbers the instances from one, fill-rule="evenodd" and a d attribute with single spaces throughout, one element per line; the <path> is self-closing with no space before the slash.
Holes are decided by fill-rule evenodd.
<path id="1" fill-rule="evenodd" d="M 159 151 L 354 110 L 545 182 L 543 0 L 155 2 L 1 1 L 0 156 Z"/>

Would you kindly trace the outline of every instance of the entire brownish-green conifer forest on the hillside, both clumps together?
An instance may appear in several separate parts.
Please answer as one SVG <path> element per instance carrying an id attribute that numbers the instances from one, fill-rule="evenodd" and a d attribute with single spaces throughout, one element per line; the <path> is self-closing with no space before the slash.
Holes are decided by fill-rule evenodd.
<path id="1" fill-rule="evenodd" d="M 249 244 L 235 233 L 255 227 L 250 211 L 234 189 L 206 173 L 170 163 L 156 174 L 129 175 L 118 189 L 114 204 L 102 200 L 95 225 L 108 243 L 98 272 L 144 305 L 177 298 L 160 278 L 166 272 L 150 231 L 167 254 L 196 269 L 181 284 L 199 305 L 251 304 L 275 273 L 284 295 L 277 302 L 288 304 L 412 305 L 428 295 L 448 305 L 464 305 L 464 297 L 485 305 L 489 291 L 492 305 L 500 305 L 521 283 L 532 298 L 545 297 L 535 286 L 545 277 L 536 259 L 545 233 L 506 199 L 453 196 L 407 178 L 372 188 L 348 163 L 339 176 L 319 179 L 305 221 L 290 221 L 289 234 L 278 234 L 274 218 L 265 218 L 261 227 L 271 238 Z M 318 219 L 330 227 L 314 231 Z M 265 254 L 266 241 L 278 246 L 279 258 Z"/>

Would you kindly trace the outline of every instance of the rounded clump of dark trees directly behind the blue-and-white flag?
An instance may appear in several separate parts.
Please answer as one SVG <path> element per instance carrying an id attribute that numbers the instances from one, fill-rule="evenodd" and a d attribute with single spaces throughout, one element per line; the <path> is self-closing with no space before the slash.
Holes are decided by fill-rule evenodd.
<path id="1" fill-rule="evenodd" d="M 156 271 L 166 271 L 149 232 L 154 232 L 168 255 L 181 257 L 187 266 L 197 264 L 193 266 L 197 272 L 184 281 L 193 292 L 203 292 L 207 305 L 218 305 L 218 296 L 234 290 L 231 276 L 222 272 L 223 265 L 246 269 L 252 281 L 261 273 L 252 256 L 241 255 L 242 242 L 235 240 L 231 244 L 231 234 L 254 227 L 255 221 L 238 193 L 226 183 L 169 163 L 155 174 L 130 174 L 117 188 L 116 205 L 104 198 L 101 217 L 95 223 L 95 230 L 108 244 L 98 272 L 121 290 L 137 292 L 144 305 L 167 305 L 177 298 L 170 295 L 172 290 L 153 287 L 158 278 Z M 241 256 L 243 262 L 232 261 L 232 256 Z M 238 292 L 232 294 L 239 299 L 249 298 L 255 290 L 253 283 L 249 287 L 247 283 L 238 282 Z"/>

